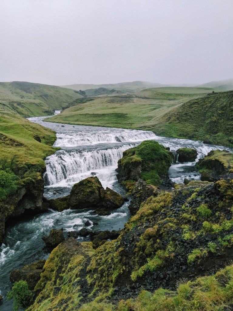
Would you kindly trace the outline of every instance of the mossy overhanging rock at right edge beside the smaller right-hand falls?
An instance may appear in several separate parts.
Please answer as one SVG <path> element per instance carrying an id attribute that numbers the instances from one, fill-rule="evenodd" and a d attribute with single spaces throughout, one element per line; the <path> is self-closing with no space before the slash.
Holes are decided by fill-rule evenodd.
<path id="1" fill-rule="evenodd" d="M 233 173 L 233 153 L 226 150 L 212 150 L 196 164 L 202 181 L 214 182 L 221 175 Z"/>

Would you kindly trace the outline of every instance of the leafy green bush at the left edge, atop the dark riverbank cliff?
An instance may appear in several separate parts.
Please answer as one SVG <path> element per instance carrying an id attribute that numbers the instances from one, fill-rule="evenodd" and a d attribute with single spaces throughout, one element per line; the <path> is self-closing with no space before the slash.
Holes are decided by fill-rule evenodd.
<path id="1" fill-rule="evenodd" d="M 9 169 L 0 170 L 0 201 L 14 193 L 19 186 L 19 177 Z"/>

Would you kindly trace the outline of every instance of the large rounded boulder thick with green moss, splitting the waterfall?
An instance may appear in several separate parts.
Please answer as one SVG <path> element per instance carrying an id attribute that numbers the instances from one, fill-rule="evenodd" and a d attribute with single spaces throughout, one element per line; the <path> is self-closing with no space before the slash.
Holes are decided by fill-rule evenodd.
<path id="1" fill-rule="evenodd" d="M 143 179 L 147 183 L 159 185 L 168 178 L 172 154 L 164 146 L 153 140 L 123 152 L 118 161 L 117 178 L 119 182 Z"/>

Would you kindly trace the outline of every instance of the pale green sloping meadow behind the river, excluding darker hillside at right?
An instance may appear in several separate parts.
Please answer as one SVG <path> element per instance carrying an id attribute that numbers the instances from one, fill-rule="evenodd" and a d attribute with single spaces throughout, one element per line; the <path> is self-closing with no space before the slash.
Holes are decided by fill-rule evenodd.
<path id="1" fill-rule="evenodd" d="M 165 113 L 210 91 L 212 89 L 162 87 L 145 89 L 133 95 L 96 97 L 62 111 L 49 121 L 153 130 Z"/>

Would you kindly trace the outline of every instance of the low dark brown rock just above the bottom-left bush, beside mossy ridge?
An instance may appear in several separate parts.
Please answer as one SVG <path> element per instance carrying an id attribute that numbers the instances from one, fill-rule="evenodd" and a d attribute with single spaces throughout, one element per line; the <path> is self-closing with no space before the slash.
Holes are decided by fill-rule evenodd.
<path id="1" fill-rule="evenodd" d="M 30 290 L 33 290 L 40 279 L 40 274 L 42 272 L 44 264 L 45 260 L 43 259 L 27 265 L 22 269 L 12 270 L 10 275 L 11 282 L 15 283 L 20 280 L 26 281 Z"/>

